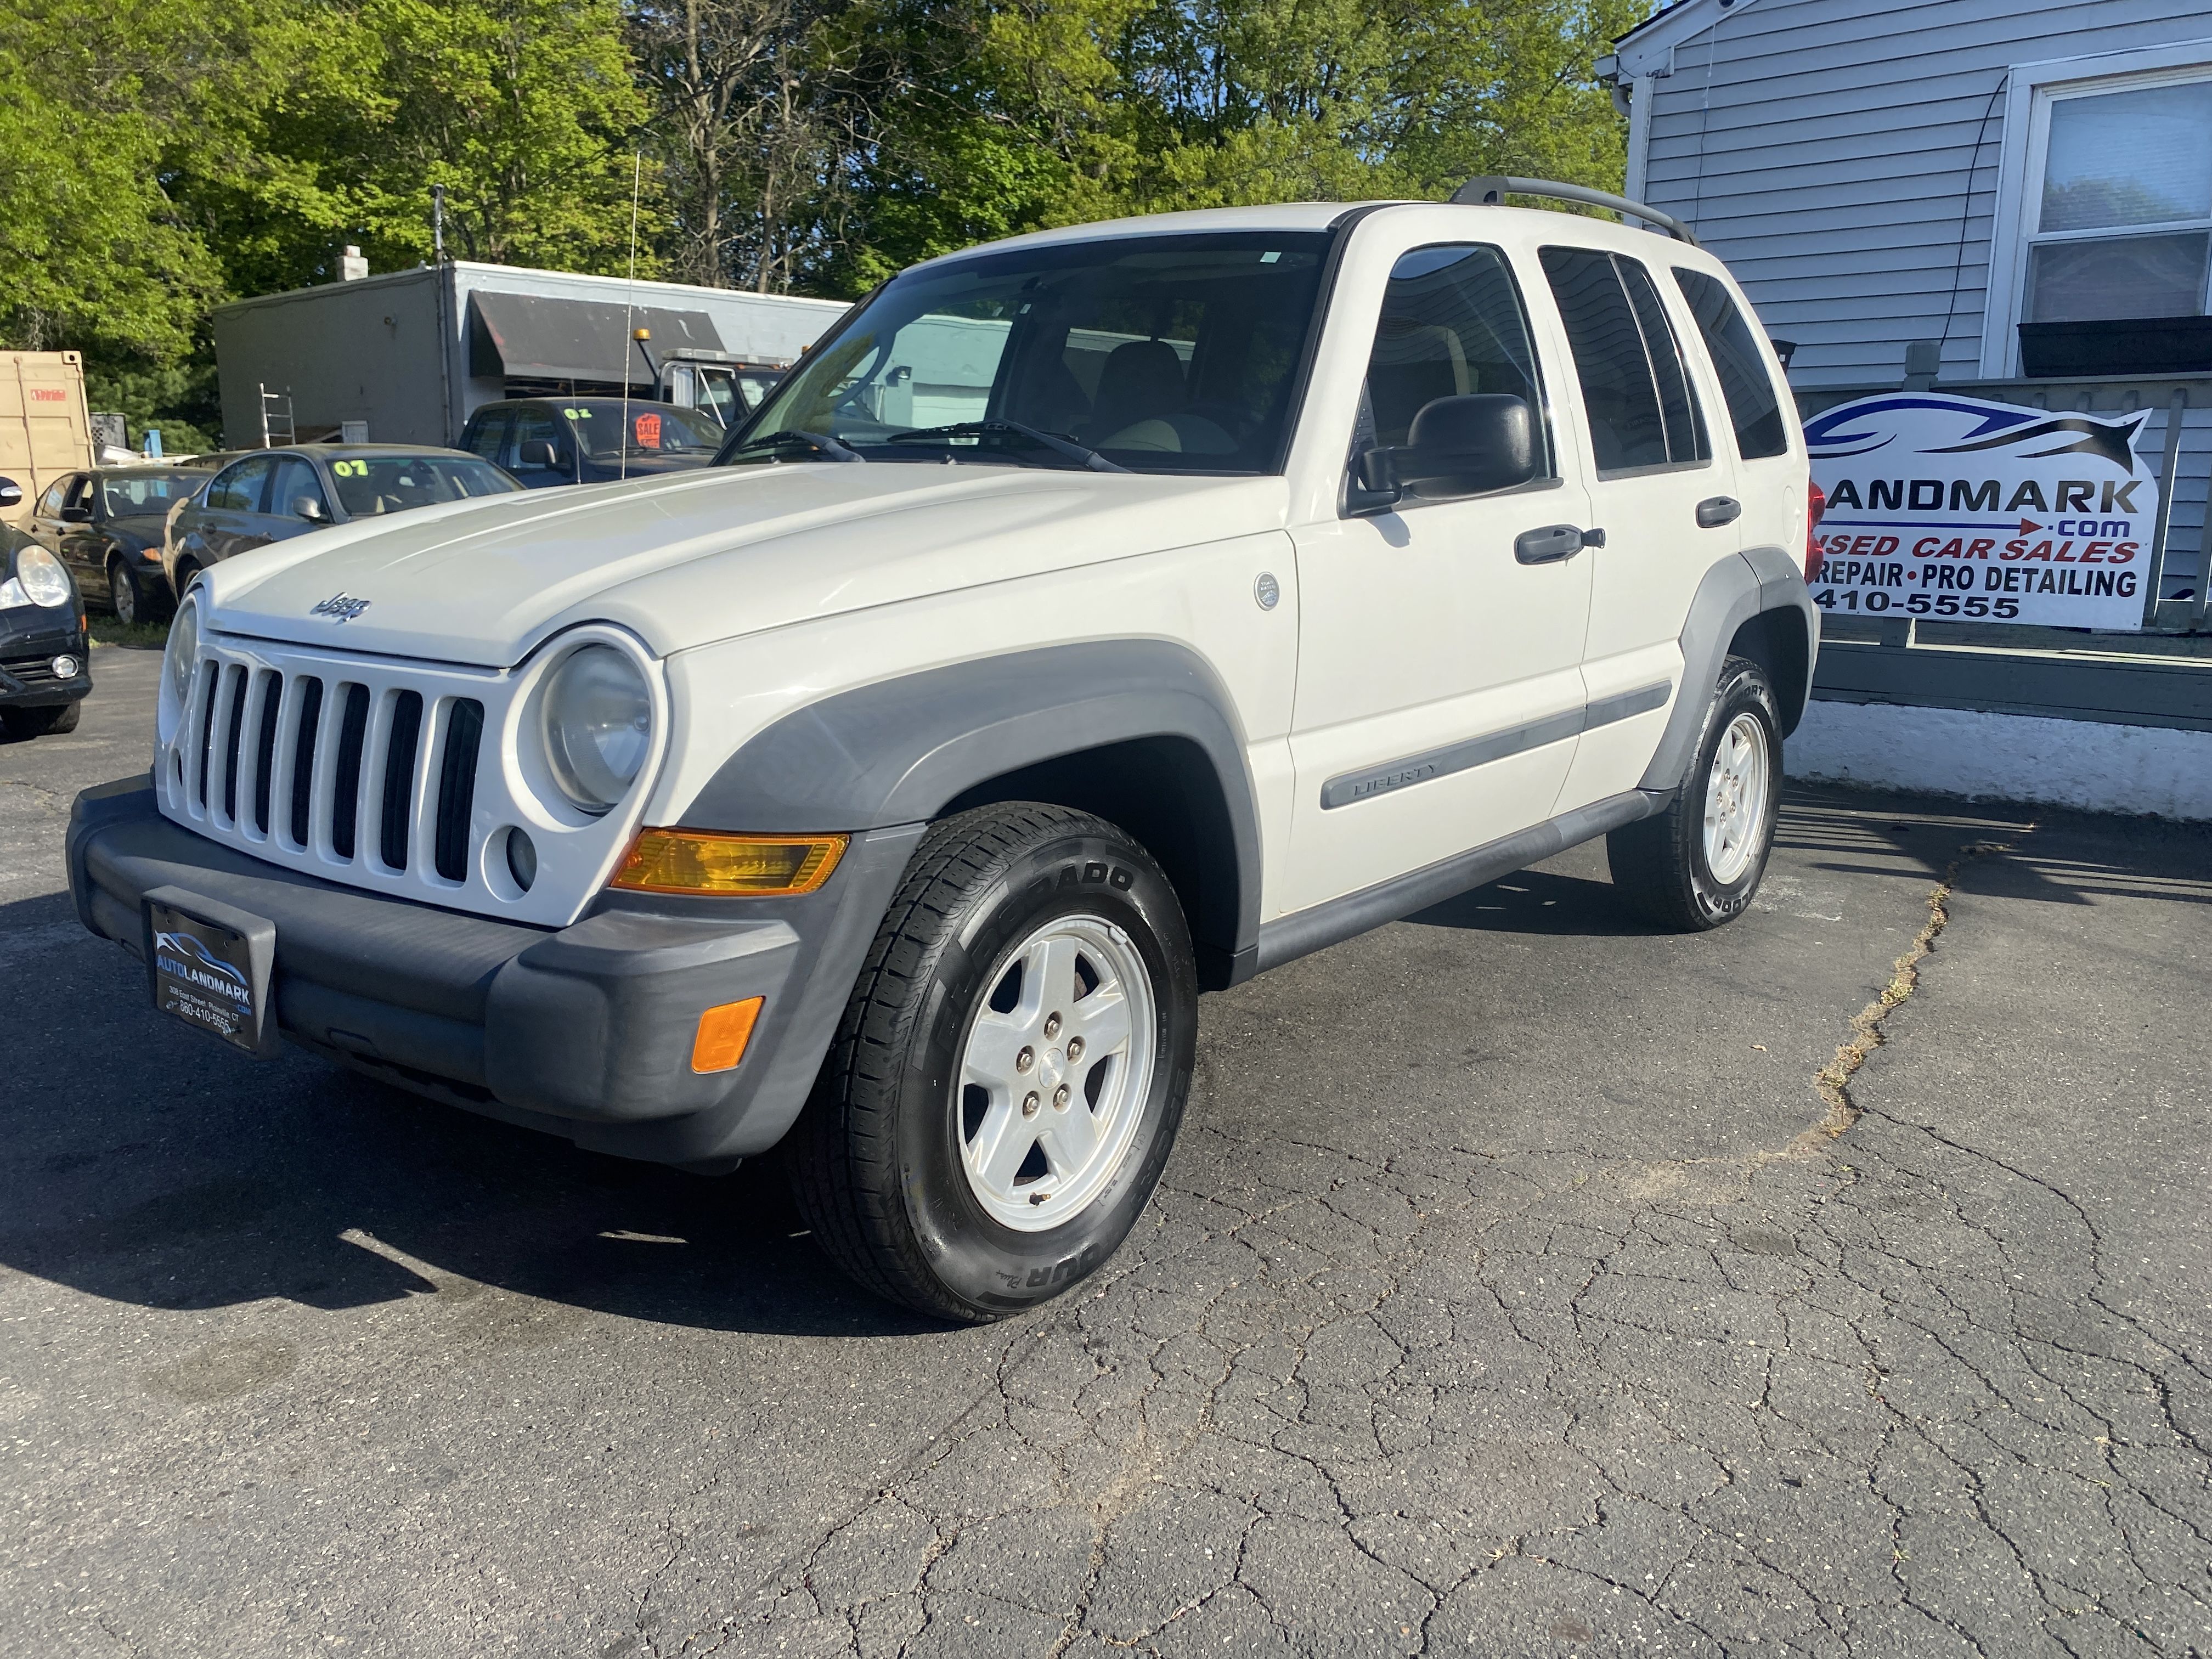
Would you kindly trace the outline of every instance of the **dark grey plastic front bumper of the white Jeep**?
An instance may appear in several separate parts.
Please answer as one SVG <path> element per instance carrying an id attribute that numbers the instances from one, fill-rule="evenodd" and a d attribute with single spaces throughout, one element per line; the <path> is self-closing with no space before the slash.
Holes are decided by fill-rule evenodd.
<path id="1" fill-rule="evenodd" d="M 577 1146 L 717 1166 L 790 1128 L 925 825 L 858 834 L 790 900 L 602 894 L 571 927 L 469 916 L 265 865 L 195 836 L 148 779 L 69 816 L 80 920 L 133 956 L 139 900 L 181 887 L 276 927 L 272 1004 L 294 1042 Z M 745 1057 L 690 1068 L 699 1015 L 765 998 Z"/>

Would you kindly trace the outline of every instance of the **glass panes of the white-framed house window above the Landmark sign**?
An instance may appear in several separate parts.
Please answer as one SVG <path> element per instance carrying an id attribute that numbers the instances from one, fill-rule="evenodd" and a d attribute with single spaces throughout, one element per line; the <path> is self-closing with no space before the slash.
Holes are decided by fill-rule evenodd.
<path id="1" fill-rule="evenodd" d="M 2212 80 L 2053 97 L 2022 319 L 2203 316 Z"/>

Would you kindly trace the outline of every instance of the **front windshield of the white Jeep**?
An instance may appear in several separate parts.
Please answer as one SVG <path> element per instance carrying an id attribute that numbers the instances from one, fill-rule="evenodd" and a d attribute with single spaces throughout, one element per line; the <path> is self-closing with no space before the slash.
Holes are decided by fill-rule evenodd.
<path id="1" fill-rule="evenodd" d="M 1274 471 L 1327 246 L 1121 237 L 909 272 L 783 378 L 726 460 L 801 458 L 763 440 L 816 434 L 865 460 L 1084 465 L 1013 429 L 931 434 L 991 420 L 1130 471 Z"/>

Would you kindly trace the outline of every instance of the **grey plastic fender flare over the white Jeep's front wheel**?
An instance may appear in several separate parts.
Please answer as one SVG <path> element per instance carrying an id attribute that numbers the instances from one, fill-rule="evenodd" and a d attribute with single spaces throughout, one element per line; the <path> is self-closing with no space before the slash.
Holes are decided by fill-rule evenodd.
<path id="1" fill-rule="evenodd" d="M 1210 765 L 1239 891 L 1234 909 L 1221 914 L 1223 922 L 1234 918 L 1234 938 L 1206 942 L 1250 951 L 1259 940 L 1261 841 L 1243 723 L 1206 659 L 1166 639 L 1044 646 L 836 692 L 748 739 L 681 823 L 759 832 L 922 823 L 991 779 L 1144 739 L 1192 745 Z M 1192 931 L 1201 940 L 1210 931 L 1201 914 L 1192 914 Z"/>

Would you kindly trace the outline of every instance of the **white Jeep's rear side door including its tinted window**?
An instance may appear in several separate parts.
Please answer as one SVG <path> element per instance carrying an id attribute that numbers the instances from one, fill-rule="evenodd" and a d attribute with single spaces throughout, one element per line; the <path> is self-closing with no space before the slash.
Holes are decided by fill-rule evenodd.
<path id="1" fill-rule="evenodd" d="M 1681 630 L 1714 560 L 1736 551 L 1736 480 L 1714 453 L 1679 325 L 1641 259 L 1604 248 L 1537 250 L 1573 358 L 1590 451 L 1590 633 L 1582 672 L 1593 719 L 1559 810 L 1637 787 L 1681 686 Z M 1599 719 L 1601 714 L 1601 719 Z"/>

